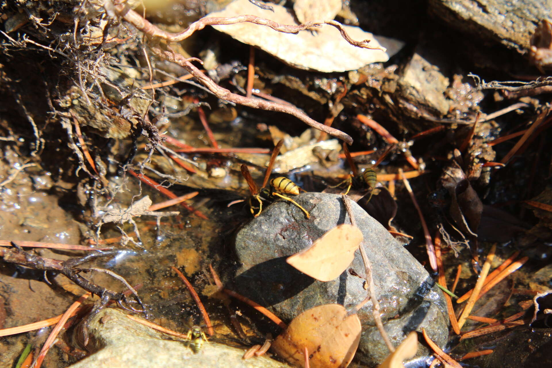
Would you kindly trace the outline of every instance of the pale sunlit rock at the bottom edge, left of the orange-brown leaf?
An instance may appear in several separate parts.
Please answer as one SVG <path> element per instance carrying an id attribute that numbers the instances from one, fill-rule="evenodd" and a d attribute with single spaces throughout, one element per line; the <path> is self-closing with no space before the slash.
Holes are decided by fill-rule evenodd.
<path id="1" fill-rule="evenodd" d="M 115 308 L 100 311 L 89 324 L 91 334 L 87 349 L 93 354 L 70 368 L 285 368 L 266 356 L 243 360 L 247 349 L 206 342 L 197 354 L 186 342 L 169 340 L 141 323 L 127 318 Z"/>

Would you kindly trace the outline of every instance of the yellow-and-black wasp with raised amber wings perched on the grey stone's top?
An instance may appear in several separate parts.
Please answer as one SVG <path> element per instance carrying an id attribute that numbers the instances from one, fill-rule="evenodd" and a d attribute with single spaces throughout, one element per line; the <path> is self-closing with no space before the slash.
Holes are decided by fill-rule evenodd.
<path id="1" fill-rule="evenodd" d="M 283 194 L 294 194 L 294 195 L 299 194 L 299 190 L 300 190 L 299 186 L 297 186 L 294 182 L 292 182 L 288 178 L 278 177 L 270 180 L 270 186 L 274 188 L 274 191 L 269 190 L 269 188 L 266 188 L 268 183 L 268 178 L 270 177 L 270 173 L 272 172 L 272 167 L 274 166 L 274 162 L 276 161 L 276 157 L 278 156 L 278 153 L 280 152 L 280 148 L 282 147 L 283 143 L 284 141 L 280 140 L 277 143 L 277 145 L 274 147 L 274 150 L 272 151 L 272 155 L 270 156 L 270 161 L 268 163 L 267 172 L 264 174 L 263 186 L 261 186 L 260 189 L 257 186 L 257 184 L 254 182 L 253 178 L 251 177 L 251 173 L 249 172 L 249 169 L 247 168 L 246 164 L 242 164 L 241 166 L 241 172 L 242 172 L 243 178 L 245 178 L 247 184 L 249 185 L 249 190 L 251 192 L 251 196 L 249 198 L 249 206 L 250 206 L 251 214 L 253 214 L 254 217 L 257 217 L 259 216 L 259 214 L 261 214 L 261 211 L 263 210 L 263 201 L 272 201 L 274 200 L 274 196 L 278 196 L 282 199 L 290 201 L 294 205 L 298 206 L 303 212 L 305 212 L 305 215 L 307 218 L 310 217 L 310 214 L 307 210 L 301 207 L 293 199 L 283 195 Z M 283 194 L 280 194 L 278 192 Z M 258 202 L 258 206 L 255 204 L 255 201 Z M 255 211 L 257 209 L 258 211 Z"/>

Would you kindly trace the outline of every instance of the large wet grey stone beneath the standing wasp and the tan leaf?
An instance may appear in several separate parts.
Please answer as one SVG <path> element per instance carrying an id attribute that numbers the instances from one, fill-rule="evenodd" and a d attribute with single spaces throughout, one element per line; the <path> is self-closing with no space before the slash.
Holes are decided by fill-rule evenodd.
<path id="1" fill-rule="evenodd" d="M 289 255 L 310 247 L 336 225 L 350 223 L 339 195 L 304 193 L 294 199 L 310 212 L 309 220 L 295 205 L 278 200 L 243 226 L 235 239 L 241 263 L 236 291 L 268 307 L 286 322 L 325 303 L 350 308 L 366 296 L 364 280 L 358 276 L 365 275 L 358 251 L 350 269 L 329 282 L 314 280 L 285 262 Z M 412 330 L 425 328 L 443 346 L 448 338 L 448 315 L 442 292 L 422 265 L 378 221 L 355 203 L 352 209 L 364 236 L 382 319 L 393 344 L 398 345 Z M 363 333 L 357 357 L 373 366 L 383 361 L 389 351 L 374 326 L 371 310 L 368 302 L 358 312 Z M 418 358 L 424 354 L 427 349 L 420 345 Z"/>

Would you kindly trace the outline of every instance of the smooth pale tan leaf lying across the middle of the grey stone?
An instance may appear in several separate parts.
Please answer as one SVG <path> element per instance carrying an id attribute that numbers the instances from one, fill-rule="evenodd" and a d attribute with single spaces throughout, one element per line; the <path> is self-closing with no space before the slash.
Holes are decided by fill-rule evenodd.
<path id="1" fill-rule="evenodd" d="M 312 246 L 291 255 L 285 262 L 319 281 L 337 278 L 353 262 L 354 251 L 363 241 L 358 227 L 343 223 L 326 232 Z"/>

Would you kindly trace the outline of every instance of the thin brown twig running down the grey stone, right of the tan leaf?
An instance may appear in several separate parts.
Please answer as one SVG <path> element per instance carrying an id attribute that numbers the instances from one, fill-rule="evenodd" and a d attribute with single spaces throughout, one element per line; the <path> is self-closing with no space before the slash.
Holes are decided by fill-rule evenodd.
<path id="1" fill-rule="evenodd" d="M 345 208 L 347 210 L 347 214 L 349 214 L 349 219 L 351 220 L 351 225 L 357 226 L 357 221 L 354 219 L 353 216 L 353 210 L 351 208 L 351 199 L 347 195 L 343 195 L 341 197 L 343 199 L 343 204 L 345 205 Z M 387 345 L 389 351 L 391 353 L 395 351 L 395 346 L 391 343 L 391 340 L 389 339 L 389 336 L 387 332 L 385 332 L 385 329 L 383 327 L 383 322 L 381 322 L 381 316 L 380 316 L 380 305 L 378 302 L 378 297 L 376 296 L 375 286 L 374 286 L 374 279 L 372 277 L 372 264 L 370 262 L 370 259 L 368 259 L 368 255 L 366 254 L 366 250 L 364 249 L 363 243 L 360 243 L 360 246 L 358 249 L 360 250 L 360 255 L 362 257 L 362 261 L 364 262 L 364 271 L 366 273 L 366 285 L 368 285 L 367 290 L 367 296 L 364 298 L 362 302 L 360 302 L 357 306 L 354 307 L 355 313 L 360 310 L 370 299 L 372 301 L 372 315 L 374 316 L 374 322 L 376 324 L 376 327 L 378 327 L 378 330 L 380 332 L 381 338 L 383 338 L 385 345 Z"/>

